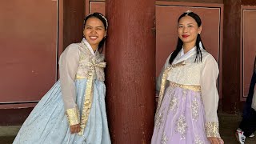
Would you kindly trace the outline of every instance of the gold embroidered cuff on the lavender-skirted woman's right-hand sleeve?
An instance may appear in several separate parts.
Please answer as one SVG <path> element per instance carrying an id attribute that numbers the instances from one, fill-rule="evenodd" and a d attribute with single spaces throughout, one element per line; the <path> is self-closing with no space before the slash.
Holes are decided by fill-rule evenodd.
<path id="1" fill-rule="evenodd" d="M 221 138 L 218 132 L 218 122 L 206 122 L 207 137 Z"/>

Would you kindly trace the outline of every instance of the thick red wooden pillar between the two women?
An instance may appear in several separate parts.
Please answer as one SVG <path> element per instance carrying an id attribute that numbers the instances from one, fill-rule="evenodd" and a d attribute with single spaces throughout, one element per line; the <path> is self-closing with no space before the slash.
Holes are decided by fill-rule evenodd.
<path id="1" fill-rule="evenodd" d="M 113 143 L 150 143 L 154 127 L 154 0 L 106 0 L 106 106 Z"/>

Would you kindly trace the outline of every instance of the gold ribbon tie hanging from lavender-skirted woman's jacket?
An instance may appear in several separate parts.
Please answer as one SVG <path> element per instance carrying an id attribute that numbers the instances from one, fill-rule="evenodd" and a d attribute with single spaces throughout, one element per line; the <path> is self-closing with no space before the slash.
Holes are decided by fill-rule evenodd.
<path id="1" fill-rule="evenodd" d="M 170 70 L 172 70 L 173 68 L 178 67 L 178 66 L 184 66 L 185 64 L 186 64 L 185 61 L 178 62 L 177 64 L 174 64 L 174 65 L 171 65 L 171 66 L 167 67 L 166 70 L 163 72 L 162 82 L 161 82 L 160 92 L 159 92 L 159 97 L 158 97 L 158 107 L 157 107 L 157 110 L 156 110 L 156 115 L 158 115 L 158 110 L 160 109 L 160 106 L 162 104 L 163 94 L 164 94 L 165 89 L 166 89 L 166 79 L 167 79 L 167 76 L 168 76 Z"/>

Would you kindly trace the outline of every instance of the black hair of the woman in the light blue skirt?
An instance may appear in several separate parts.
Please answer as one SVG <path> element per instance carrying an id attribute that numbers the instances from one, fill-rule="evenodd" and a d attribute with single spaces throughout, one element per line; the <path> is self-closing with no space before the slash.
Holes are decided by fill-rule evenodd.
<path id="1" fill-rule="evenodd" d="M 106 17 L 105 17 L 103 14 L 98 13 L 98 12 L 88 14 L 88 15 L 86 16 L 86 18 L 84 18 L 83 29 L 85 29 L 86 21 L 87 21 L 89 18 L 98 18 L 99 20 L 102 21 L 105 30 L 107 30 L 108 22 L 107 22 L 107 20 L 106 20 Z M 104 37 L 104 38 L 102 39 L 102 41 L 99 42 L 99 44 L 98 44 L 98 51 L 99 51 L 100 53 L 102 53 L 103 45 L 104 45 L 104 42 L 105 42 L 105 41 L 106 41 L 106 37 Z"/>

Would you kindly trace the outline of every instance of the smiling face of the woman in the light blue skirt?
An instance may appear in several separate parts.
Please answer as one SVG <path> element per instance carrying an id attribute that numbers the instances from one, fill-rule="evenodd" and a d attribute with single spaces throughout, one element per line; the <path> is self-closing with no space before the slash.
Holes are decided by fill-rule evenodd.
<path id="1" fill-rule="evenodd" d="M 96 50 L 99 42 L 106 36 L 105 26 L 98 18 L 88 18 L 83 34 L 90 46 Z"/>

